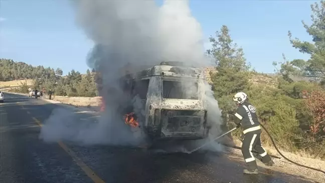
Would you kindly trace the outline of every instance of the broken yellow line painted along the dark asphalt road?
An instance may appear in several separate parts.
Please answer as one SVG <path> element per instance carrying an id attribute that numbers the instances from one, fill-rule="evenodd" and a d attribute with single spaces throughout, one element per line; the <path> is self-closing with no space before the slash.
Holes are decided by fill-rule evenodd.
<path id="1" fill-rule="evenodd" d="M 23 106 L 22 106 L 23 107 Z M 23 107 L 24 109 L 24 107 Z M 27 111 L 29 112 L 29 111 Z M 30 114 L 30 113 L 29 113 Z M 32 117 L 33 120 L 40 126 L 42 127 L 43 124 L 41 121 L 39 121 L 37 118 Z M 104 180 L 102 180 L 96 173 L 89 167 L 87 166 L 78 156 L 77 154 L 71 150 L 66 144 L 64 144 L 62 141 L 58 141 L 58 144 L 60 145 L 61 148 L 63 148 L 64 151 L 66 151 L 72 159 L 77 163 L 77 165 L 87 174 L 89 178 L 91 178 L 95 183 L 105 183 Z"/>

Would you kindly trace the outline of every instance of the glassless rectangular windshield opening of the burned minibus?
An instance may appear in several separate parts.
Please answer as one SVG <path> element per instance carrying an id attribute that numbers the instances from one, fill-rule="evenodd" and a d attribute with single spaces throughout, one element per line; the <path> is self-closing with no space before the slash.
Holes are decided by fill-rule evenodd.
<path id="1" fill-rule="evenodd" d="M 198 83 L 194 81 L 163 80 L 162 98 L 198 100 Z"/>

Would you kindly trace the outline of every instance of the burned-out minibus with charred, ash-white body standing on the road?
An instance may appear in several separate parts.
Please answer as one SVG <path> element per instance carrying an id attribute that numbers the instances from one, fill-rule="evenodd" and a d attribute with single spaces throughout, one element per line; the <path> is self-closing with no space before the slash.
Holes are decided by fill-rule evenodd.
<path id="1" fill-rule="evenodd" d="M 161 62 L 127 74 L 119 83 L 130 101 L 127 106 L 120 106 L 121 116 L 130 128 L 142 128 L 155 140 L 208 136 L 211 125 L 207 123 L 203 101 L 203 69 Z"/>

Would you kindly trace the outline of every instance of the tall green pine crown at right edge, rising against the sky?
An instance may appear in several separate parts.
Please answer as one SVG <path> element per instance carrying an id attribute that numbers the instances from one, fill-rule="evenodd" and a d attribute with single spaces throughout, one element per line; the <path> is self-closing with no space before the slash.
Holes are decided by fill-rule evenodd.
<path id="1" fill-rule="evenodd" d="M 288 36 L 292 47 L 299 52 L 310 55 L 310 59 L 305 61 L 295 59 L 290 62 L 281 63 L 281 69 L 286 74 L 308 77 L 312 80 L 320 80 L 325 82 L 325 1 L 320 1 L 319 4 L 310 5 L 312 15 L 312 24 L 306 25 L 303 21 L 303 27 L 306 32 L 312 37 L 312 43 L 300 41 L 298 38 L 292 39 L 292 34 L 289 31 Z"/>

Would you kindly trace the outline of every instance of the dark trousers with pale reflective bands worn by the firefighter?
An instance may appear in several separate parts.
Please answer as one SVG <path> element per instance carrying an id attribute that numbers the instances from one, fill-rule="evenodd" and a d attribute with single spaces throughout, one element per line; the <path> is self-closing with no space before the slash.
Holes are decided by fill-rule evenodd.
<path id="1" fill-rule="evenodd" d="M 271 161 L 270 155 L 267 154 L 266 150 L 261 144 L 261 134 L 254 133 L 254 131 L 244 134 L 242 138 L 242 153 L 247 164 L 248 170 L 254 170 L 257 168 L 256 160 L 252 150 L 256 150 L 261 157 L 263 163 Z"/>

